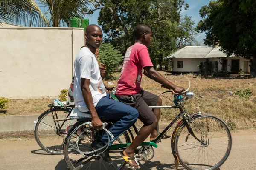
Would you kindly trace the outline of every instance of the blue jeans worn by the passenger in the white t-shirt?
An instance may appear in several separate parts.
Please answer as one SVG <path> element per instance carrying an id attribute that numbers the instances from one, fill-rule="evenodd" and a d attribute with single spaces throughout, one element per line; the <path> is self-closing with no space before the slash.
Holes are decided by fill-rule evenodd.
<path id="1" fill-rule="evenodd" d="M 109 94 L 102 97 L 95 108 L 99 116 L 104 116 L 107 119 L 117 121 L 109 129 L 115 139 L 128 130 L 136 122 L 139 116 L 136 108 L 128 106 L 122 102 L 109 99 Z M 108 135 L 106 133 L 102 136 L 101 141 L 103 144 L 108 144 Z M 110 146 L 111 144 L 112 143 L 110 143 Z"/>

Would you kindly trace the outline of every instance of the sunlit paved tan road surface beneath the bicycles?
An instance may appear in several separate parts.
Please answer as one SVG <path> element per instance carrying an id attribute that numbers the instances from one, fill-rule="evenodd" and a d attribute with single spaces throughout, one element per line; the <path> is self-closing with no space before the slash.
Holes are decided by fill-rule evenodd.
<path id="1" fill-rule="evenodd" d="M 169 139 L 162 140 L 155 152 L 142 170 L 175 169 Z M 35 141 L 0 142 L 0 170 L 66 170 L 66 167 L 62 155 L 44 152 Z M 233 133 L 232 151 L 220 170 L 256 170 L 255 130 Z"/>

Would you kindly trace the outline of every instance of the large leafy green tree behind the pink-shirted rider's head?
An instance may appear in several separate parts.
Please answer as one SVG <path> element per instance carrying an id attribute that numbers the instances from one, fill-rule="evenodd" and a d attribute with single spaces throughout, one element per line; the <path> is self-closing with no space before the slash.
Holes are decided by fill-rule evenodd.
<path id="1" fill-rule="evenodd" d="M 188 27 L 184 27 L 189 26 L 187 21 L 192 22 L 191 17 L 180 15 L 183 7 L 188 8 L 184 0 L 96 0 L 96 3 L 96 8 L 89 13 L 101 9 L 98 23 L 107 34 L 104 41 L 123 55 L 128 46 L 134 44 L 133 29 L 141 23 L 153 31 L 150 55 L 154 66 L 159 64 L 160 69 L 163 57 L 192 40 L 187 39 Z M 191 30 L 190 37 L 195 35 L 193 26 Z"/>

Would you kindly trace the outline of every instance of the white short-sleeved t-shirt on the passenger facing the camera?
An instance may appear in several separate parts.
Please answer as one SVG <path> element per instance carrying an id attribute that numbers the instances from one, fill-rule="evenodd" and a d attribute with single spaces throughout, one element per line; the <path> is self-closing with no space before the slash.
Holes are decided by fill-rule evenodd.
<path id="1" fill-rule="evenodd" d="M 74 62 L 74 102 L 81 112 L 89 111 L 81 91 L 81 78 L 90 79 L 90 91 L 93 96 L 93 104 L 97 105 L 99 100 L 106 96 L 106 88 L 100 76 L 99 64 L 95 55 L 83 47 L 76 56 Z"/>

